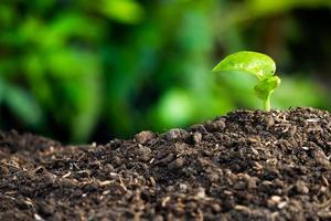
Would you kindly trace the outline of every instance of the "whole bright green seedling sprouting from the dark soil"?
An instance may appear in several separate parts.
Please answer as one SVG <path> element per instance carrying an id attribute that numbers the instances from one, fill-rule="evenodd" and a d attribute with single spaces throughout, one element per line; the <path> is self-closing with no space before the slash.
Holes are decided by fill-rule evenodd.
<path id="1" fill-rule="evenodd" d="M 258 52 L 242 51 L 226 56 L 213 69 L 213 72 L 232 71 L 253 74 L 258 78 L 255 95 L 263 101 L 265 110 L 270 110 L 270 95 L 280 84 L 280 78 L 275 76 L 274 60 Z"/>

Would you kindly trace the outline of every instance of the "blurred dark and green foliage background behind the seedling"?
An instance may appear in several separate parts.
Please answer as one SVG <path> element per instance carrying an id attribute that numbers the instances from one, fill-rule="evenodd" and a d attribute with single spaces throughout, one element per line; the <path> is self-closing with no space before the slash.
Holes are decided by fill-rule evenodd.
<path id="1" fill-rule="evenodd" d="M 242 50 L 278 64 L 274 108 L 331 109 L 330 24 L 330 0 L 1 0 L 0 127 L 104 143 L 260 108 L 211 73 Z"/>

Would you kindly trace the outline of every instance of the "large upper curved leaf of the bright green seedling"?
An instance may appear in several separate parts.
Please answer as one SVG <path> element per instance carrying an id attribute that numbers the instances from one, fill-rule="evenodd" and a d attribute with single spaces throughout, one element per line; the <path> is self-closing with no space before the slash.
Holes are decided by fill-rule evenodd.
<path id="1" fill-rule="evenodd" d="M 276 64 L 268 55 L 243 51 L 226 56 L 213 69 L 213 72 L 225 71 L 248 72 L 261 80 L 264 76 L 274 75 Z"/>

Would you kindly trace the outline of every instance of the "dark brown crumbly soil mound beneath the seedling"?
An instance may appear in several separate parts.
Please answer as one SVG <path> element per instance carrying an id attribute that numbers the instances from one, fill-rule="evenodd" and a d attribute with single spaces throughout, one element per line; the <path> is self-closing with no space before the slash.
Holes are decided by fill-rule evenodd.
<path id="1" fill-rule="evenodd" d="M 0 133 L 0 220 L 331 220 L 331 116 L 237 110 L 62 146 Z"/>

